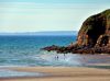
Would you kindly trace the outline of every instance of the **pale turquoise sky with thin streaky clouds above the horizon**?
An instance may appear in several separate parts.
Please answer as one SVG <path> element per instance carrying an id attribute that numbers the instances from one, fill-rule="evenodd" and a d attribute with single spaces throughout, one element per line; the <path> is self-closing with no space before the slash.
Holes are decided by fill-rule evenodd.
<path id="1" fill-rule="evenodd" d="M 110 0 L 0 0 L 0 32 L 78 31 Z"/>

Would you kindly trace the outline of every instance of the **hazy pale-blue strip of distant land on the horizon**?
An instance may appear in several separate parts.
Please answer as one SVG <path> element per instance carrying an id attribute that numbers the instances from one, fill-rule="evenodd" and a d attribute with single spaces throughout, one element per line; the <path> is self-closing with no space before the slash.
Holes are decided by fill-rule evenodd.
<path id="1" fill-rule="evenodd" d="M 29 36 L 68 36 L 68 35 L 77 35 L 77 31 L 52 31 L 52 32 L 24 32 L 24 33 L 0 33 L 0 35 L 29 35 Z"/>

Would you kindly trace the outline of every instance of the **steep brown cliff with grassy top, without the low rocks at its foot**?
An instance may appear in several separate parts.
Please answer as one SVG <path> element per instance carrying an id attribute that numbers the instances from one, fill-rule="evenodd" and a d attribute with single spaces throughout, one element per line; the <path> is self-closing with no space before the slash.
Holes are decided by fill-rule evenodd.
<path id="1" fill-rule="evenodd" d="M 77 44 L 110 46 L 110 9 L 88 18 L 78 32 Z"/>

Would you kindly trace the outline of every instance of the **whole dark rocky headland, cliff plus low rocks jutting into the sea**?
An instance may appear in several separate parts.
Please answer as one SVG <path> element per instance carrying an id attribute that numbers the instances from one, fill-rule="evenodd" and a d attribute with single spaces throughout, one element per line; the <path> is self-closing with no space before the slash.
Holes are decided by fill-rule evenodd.
<path id="1" fill-rule="evenodd" d="M 110 54 L 110 9 L 88 18 L 82 23 L 74 45 L 54 45 L 43 49 L 73 54 Z"/>

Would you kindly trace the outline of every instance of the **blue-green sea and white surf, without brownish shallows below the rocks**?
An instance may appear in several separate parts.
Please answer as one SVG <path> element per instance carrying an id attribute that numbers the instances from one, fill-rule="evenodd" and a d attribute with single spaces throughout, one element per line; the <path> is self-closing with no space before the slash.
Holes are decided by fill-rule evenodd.
<path id="1" fill-rule="evenodd" d="M 76 36 L 0 36 L 0 66 L 79 66 L 78 61 L 72 62 L 78 57 L 41 50 L 51 45 L 66 46 L 75 40 Z"/>

